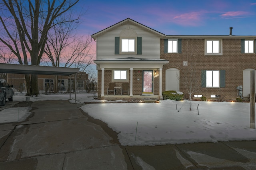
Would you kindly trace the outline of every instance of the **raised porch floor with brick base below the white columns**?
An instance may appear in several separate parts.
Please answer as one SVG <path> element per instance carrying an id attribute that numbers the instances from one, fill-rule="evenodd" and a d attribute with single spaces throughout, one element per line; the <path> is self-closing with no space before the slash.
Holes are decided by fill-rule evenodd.
<path id="1" fill-rule="evenodd" d="M 109 94 L 105 94 L 104 96 L 101 96 L 100 100 L 127 100 L 127 101 L 136 101 L 136 100 L 142 100 L 142 101 L 146 101 L 146 100 L 163 100 L 163 98 L 158 95 L 133 95 L 132 97 L 130 95 L 109 95 Z"/>

